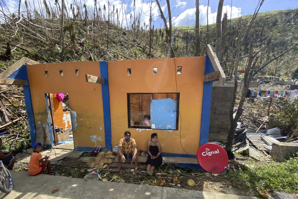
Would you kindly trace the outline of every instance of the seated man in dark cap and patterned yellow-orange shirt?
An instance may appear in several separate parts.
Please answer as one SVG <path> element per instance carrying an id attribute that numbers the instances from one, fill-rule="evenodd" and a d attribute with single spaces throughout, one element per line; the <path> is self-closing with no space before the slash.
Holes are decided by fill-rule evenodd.
<path id="1" fill-rule="evenodd" d="M 137 150 L 136 141 L 133 138 L 130 138 L 130 132 L 129 131 L 125 131 L 124 132 L 124 138 L 122 138 L 119 141 L 119 145 L 118 145 L 118 163 L 119 163 L 119 167 L 116 169 L 116 171 L 120 171 L 122 162 L 124 163 L 125 160 L 133 159 L 134 160 L 134 165 L 135 165 L 134 171 L 136 173 L 139 173 L 137 153 L 138 153 L 138 150 Z"/>

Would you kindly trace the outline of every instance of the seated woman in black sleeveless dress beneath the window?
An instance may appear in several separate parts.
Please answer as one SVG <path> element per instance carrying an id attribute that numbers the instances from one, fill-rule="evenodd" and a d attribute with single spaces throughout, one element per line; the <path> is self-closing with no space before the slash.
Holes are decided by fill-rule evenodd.
<path id="1" fill-rule="evenodd" d="M 153 171 L 155 168 L 159 167 L 162 163 L 161 158 L 161 146 L 160 142 L 157 141 L 157 133 L 151 134 L 151 140 L 147 142 L 148 158 L 146 161 L 147 171 Z"/>

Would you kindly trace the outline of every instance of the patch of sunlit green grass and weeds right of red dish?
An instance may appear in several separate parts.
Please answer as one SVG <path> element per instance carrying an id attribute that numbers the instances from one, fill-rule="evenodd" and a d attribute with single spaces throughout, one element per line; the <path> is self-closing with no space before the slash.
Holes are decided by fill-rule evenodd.
<path id="1" fill-rule="evenodd" d="M 298 157 L 291 158 L 282 163 L 265 163 L 260 165 L 256 162 L 248 164 L 255 165 L 249 171 L 231 171 L 228 177 L 235 183 L 242 183 L 244 188 L 252 188 L 255 192 L 280 191 L 288 193 L 298 192 Z"/>

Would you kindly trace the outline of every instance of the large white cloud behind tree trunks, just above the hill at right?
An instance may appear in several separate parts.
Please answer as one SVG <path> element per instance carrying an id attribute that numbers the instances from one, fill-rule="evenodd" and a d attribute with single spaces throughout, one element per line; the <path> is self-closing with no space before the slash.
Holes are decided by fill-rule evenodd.
<path id="1" fill-rule="evenodd" d="M 207 6 L 200 5 L 200 23 L 202 25 L 207 24 Z M 231 16 L 231 7 L 224 6 L 223 13 L 227 12 L 228 18 Z M 208 7 L 208 24 L 213 24 L 216 22 L 216 15 L 217 12 L 212 13 L 211 7 Z M 241 16 L 241 8 L 237 8 L 235 6 L 232 7 L 232 18 Z M 196 22 L 196 8 L 189 8 L 179 14 L 178 16 L 172 17 L 173 25 L 174 26 L 194 26 Z"/>

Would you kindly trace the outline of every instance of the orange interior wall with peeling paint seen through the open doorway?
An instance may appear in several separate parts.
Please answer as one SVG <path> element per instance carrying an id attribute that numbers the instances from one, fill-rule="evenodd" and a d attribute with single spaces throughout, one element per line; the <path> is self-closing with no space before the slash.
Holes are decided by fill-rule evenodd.
<path id="1" fill-rule="evenodd" d="M 51 93 L 51 95 L 54 108 L 54 125 L 62 129 L 71 127 L 71 122 L 66 119 L 67 116 L 70 116 L 70 111 L 63 112 L 62 101 L 56 98 L 56 93 Z"/>

